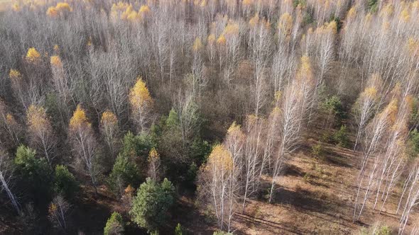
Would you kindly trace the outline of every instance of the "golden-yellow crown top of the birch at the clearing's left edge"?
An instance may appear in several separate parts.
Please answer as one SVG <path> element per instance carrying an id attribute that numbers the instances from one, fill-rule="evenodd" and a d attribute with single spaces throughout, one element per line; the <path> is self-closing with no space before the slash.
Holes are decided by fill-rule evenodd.
<path id="1" fill-rule="evenodd" d="M 208 157 L 208 166 L 221 169 L 222 171 L 232 171 L 233 159 L 232 154 L 222 144 L 217 144 L 212 149 Z"/>

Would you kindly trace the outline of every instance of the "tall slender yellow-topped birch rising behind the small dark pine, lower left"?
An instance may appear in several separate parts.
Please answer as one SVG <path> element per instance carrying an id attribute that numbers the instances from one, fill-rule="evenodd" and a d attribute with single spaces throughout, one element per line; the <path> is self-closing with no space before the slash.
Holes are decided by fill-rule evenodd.
<path id="1" fill-rule="evenodd" d="M 87 120 L 85 110 L 80 105 L 77 105 L 68 128 L 77 164 L 83 165 L 82 168 L 89 175 L 95 193 L 97 193 L 97 173 L 99 171 L 97 168 L 97 142 L 94 139 L 92 124 Z"/>

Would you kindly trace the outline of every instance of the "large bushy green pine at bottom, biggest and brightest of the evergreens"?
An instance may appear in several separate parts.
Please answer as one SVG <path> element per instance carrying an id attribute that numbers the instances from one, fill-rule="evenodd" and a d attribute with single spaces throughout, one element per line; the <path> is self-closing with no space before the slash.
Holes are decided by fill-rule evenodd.
<path id="1" fill-rule="evenodd" d="M 129 214 L 138 226 L 149 232 L 158 231 L 168 219 L 168 210 L 174 202 L 172 183 L 165 178 L 161 184 L 147 178 L 140 185 Z"/>

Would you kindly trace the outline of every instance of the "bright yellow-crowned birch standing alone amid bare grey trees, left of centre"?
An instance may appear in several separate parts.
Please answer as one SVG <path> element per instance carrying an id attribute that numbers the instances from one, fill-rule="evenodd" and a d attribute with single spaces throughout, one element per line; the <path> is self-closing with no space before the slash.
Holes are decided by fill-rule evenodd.
<path id="1" fill-rule="evenodd" d="M 136 84 L 129 93 L 129 103 L 131 105 L 132 118 L 138 125 L 138 132 L 147 130 L 147 123 L 151 120 L 151 99 L 146 83 L 141 77 L 137 78 Z"/>

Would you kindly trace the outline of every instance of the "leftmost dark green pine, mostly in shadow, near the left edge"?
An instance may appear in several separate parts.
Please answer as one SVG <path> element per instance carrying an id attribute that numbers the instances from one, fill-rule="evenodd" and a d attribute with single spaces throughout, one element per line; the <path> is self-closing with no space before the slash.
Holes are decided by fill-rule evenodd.
<path id="1" fill-rule="evenodd" d="M 33 196 L 36 202 L 48 203 L 51 196 L 52 172 L 47 161 L 44 158 L 36 158 L 35 150 L 21 145 L 16 151 L 14 164 L 23 188 L 30 191 L 28 195 Z"/>

